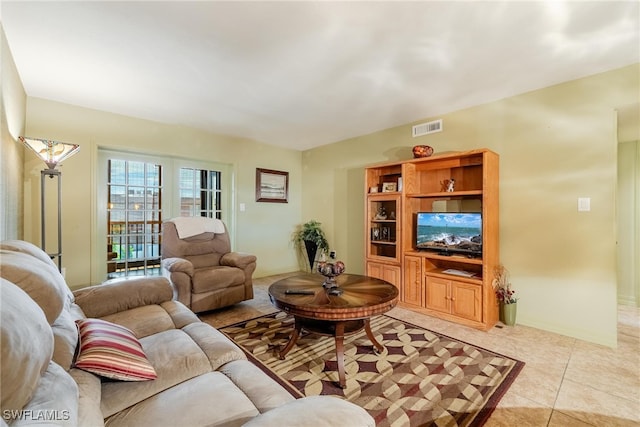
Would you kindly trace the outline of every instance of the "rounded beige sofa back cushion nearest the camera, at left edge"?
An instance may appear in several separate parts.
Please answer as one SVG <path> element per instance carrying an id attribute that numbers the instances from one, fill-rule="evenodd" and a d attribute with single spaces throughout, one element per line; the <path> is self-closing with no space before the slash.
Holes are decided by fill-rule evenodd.
<path id="1" fill-rule="evenodd" d="M 0 406 L 2 411 L 19 410 L 49 367 L 53 333 L 40 307 L 4 279 L 0 279 L 0 301 Z"/>

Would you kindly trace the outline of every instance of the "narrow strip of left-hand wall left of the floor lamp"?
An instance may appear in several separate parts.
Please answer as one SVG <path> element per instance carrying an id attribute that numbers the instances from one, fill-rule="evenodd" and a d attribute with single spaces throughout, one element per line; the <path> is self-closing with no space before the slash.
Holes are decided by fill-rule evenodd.
<path id="1" fill-rule="evenodd" d="M 2 49 L 2 98 L 0 114 L 0 240 L 22 238 L 22 170 L 24 149 L 18 136 L 24 130 L 27 96 L 22 87 L 4 30 Z"/>

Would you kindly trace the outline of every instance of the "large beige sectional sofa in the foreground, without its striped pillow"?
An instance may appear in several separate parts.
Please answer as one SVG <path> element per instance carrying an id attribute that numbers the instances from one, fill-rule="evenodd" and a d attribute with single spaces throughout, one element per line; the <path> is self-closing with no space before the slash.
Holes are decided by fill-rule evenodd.
<path id="1" fill-rule="evenodd" d="M 23 241 L 0 244 L 0 276 L 2 425 L 375 425 L 339 398 L 293 398 L 173 300 L 165 278 L 72 293 L 49 257 Z M 76 321 L 86 318 L 133 332 L 156 378 L 123 381 L 75 367 L 84 352 Z"/>

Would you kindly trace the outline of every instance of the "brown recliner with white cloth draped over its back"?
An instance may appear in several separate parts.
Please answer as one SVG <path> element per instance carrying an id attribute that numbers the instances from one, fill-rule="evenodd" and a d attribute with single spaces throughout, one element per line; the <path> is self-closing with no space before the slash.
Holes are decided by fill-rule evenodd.
<path id="1" fill-rule="evenodd" d="M 231 252 L 219 219 L 180 217 L 162 224 L 162 269 L 177 299 L 194 313 L 253 298 L 256 257 Z"/>

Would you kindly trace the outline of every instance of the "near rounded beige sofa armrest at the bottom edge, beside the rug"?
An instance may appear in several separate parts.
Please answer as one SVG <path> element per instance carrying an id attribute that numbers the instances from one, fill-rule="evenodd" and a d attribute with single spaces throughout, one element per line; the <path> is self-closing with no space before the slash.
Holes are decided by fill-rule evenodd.
<path id="1" fill-rule="evenodd" d="M 243 427 L 281 427 L 295 420 L 296 427 L 375 427 L 361 407 L 334 396 L 310 396 L 258 415 Z"/>

